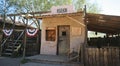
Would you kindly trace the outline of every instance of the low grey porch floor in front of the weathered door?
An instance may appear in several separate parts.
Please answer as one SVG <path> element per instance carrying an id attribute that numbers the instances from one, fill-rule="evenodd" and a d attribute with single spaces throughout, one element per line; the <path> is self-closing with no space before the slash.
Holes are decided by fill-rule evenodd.
<path id="1" fill-rule="evenodd" d="M 44 64 L 60 64 L 60 66 L 84 66 L 80 62 L 71 62 L 68 57 L 59 55 L 35 55 L 26 57 L 26 59 Z"/>

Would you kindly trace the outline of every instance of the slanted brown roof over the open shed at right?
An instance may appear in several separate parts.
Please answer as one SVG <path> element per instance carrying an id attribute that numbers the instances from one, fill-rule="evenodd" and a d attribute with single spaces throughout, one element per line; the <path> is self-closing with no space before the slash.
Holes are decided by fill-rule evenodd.
<path id="1" fill-rule="evenodd" d="M 96 32 L 120 33 L 120 16 L 87 13 L 87 27 Z"/>

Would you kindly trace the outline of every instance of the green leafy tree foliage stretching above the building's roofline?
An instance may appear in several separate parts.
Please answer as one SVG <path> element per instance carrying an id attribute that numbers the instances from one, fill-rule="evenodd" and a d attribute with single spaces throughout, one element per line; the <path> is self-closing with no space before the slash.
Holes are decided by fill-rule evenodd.
<path id="1" fill-rule="evenodd" d="M 88 0 L 0 0 L 0 13 L 21 13 L 49 11 L 52 6 L 71 5 L 77 11 L 87 5 L 87 12 L 98 13 L 100 8 L 97 4 L 91 4 Z"/>

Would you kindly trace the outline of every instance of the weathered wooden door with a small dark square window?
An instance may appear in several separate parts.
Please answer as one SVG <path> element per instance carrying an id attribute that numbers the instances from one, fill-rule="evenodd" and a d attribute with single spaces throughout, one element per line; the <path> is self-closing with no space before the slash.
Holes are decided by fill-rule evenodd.
<path id="1" fill-rule="evenodd" d="M 58 26 L 58 55 L 67 55 L 70 49 L 70 26 Z"/>

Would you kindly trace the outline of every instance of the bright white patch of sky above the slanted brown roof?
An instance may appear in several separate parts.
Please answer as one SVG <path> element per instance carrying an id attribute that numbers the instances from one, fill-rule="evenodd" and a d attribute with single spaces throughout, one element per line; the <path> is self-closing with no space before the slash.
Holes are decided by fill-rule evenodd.
<path id="1" fill-rule="evenodd" d="M 101 8 L 102 14 L 120 16 L 120 0 L 91 0 Z"/>

